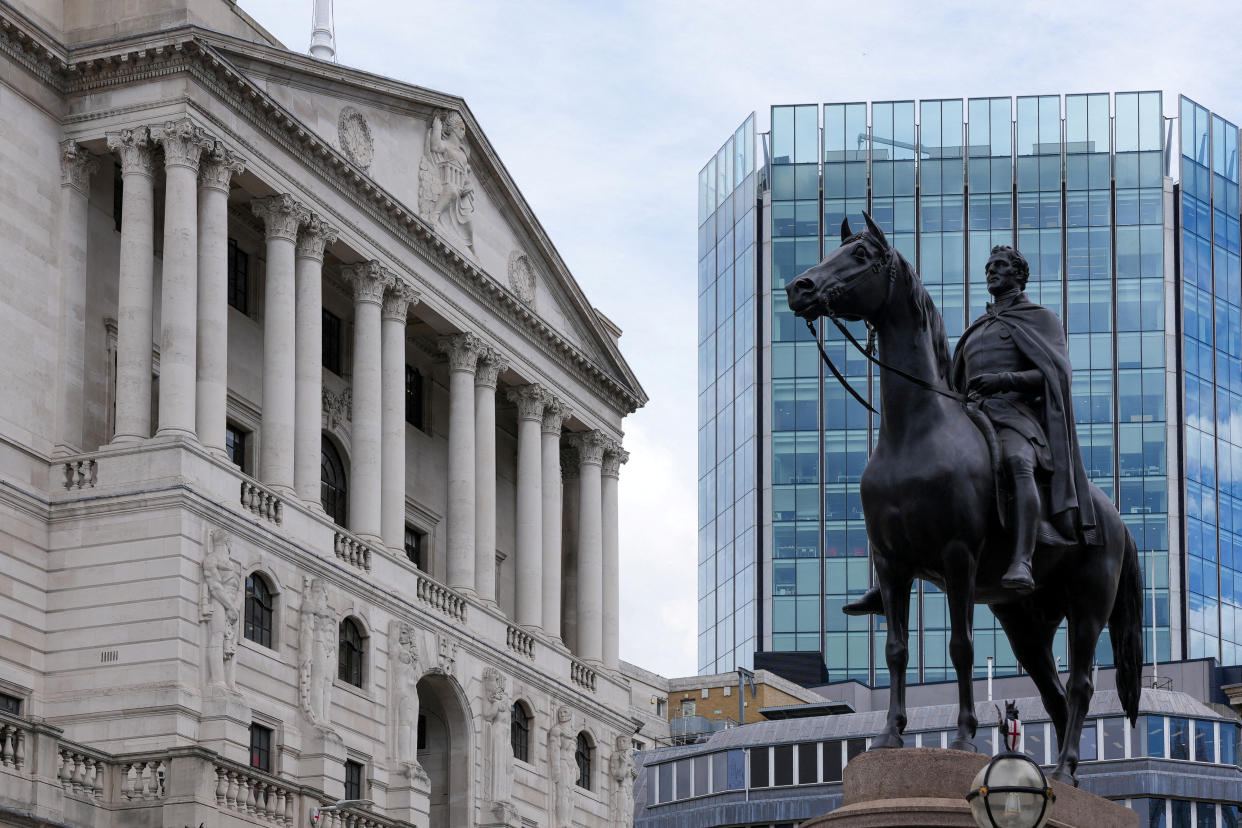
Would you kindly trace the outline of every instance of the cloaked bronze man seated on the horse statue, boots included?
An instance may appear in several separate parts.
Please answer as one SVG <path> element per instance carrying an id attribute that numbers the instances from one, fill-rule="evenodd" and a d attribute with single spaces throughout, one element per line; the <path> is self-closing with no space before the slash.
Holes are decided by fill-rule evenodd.
<path id="1" fill-rule="evenodd" d="M 994 247 L 985 272 L 992 302 L 958 341 L 950 382 L 996 430 L 1011 488 L 1006 531 L 1012 557 L 1001 583 L 1025 593 L 1035 588 L 1031 556 L 1036 541 L 1098 542 L 1095 513 L 1074 430 L 1061 320 L 1027 298 L 1023 290 L 1031 271 L 1012 247 Z M 1037 475 L 1048 482 L 1047 513 L 1054 534 L 1040 533 L 1043 510 Z M 879 590 L 872 587 L 845 611 L 883 613 Z"/>

